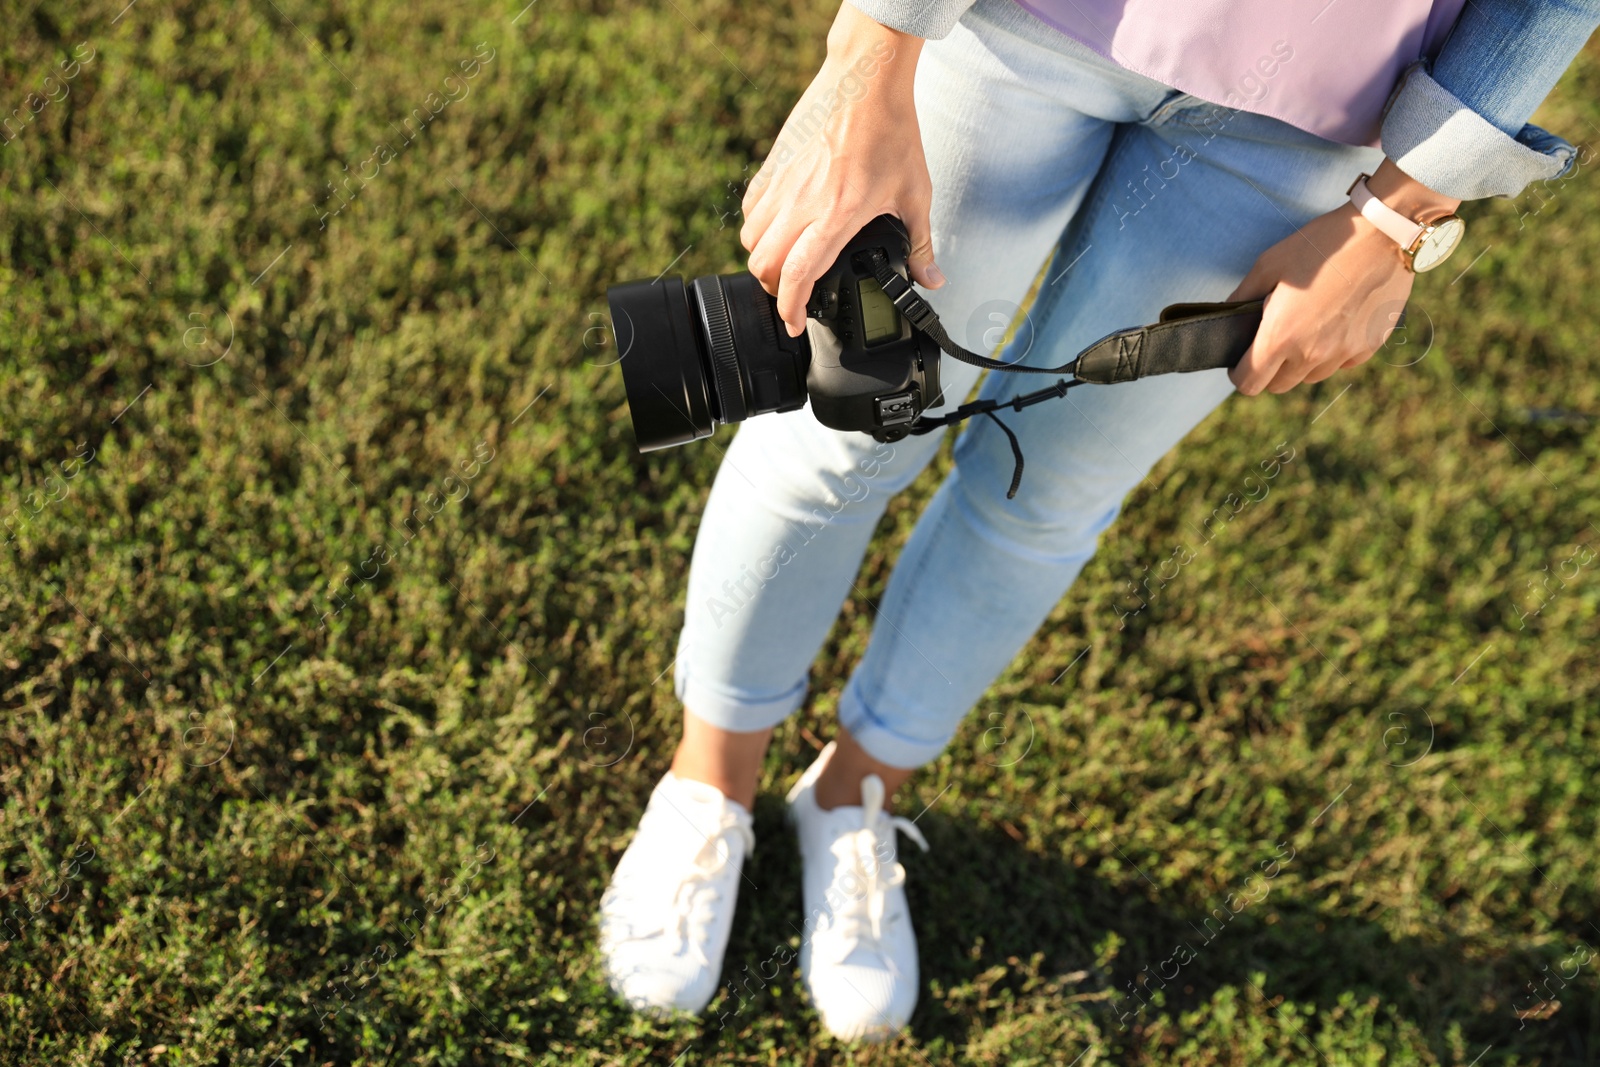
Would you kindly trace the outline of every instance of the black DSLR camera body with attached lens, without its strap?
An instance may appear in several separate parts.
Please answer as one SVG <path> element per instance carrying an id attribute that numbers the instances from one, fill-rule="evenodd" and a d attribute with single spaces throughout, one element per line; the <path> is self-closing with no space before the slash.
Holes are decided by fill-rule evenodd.
<path id="1" fill-rule="evenodd" d="M 710 437 L 723 422 L 794 411 L 880 442 L 906 437 L 942 402 L 939 346 L 883 291 L 910 242 L 880 214 L 811 290 L 806 333 L 790 338 L 749 272 L 626 282 L 606 290 L 640 451 Z M 898 283 L 899 278 L 888 278 Z"/>

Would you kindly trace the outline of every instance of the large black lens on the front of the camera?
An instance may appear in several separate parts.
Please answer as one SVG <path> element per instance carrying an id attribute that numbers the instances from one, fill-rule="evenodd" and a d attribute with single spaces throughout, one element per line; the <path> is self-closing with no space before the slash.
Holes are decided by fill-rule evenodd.
<path id="1" fill-rule="evenodd" d="M 805 403 L 811 349 L 778 328 L 747 272 L 629 282 L 606 291 L 640 451 L 710 437 L 717 426 Z"/>

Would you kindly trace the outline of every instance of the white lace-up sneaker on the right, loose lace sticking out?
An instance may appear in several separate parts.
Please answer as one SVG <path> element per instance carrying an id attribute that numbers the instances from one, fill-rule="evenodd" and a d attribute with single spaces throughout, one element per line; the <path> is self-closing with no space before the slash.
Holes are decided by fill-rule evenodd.
<path id="1" fill-rule="evenodd" d="M 910 1019 L 918 982 L 894 832 L 906 832 L 923 851 L 928 841 L 910 819 L 883 811 L 877 774 L 861 781 L 859 808 L 818 808 L 814 785 L 830 755 L 832 744 L 789 790 L 805 885 L 800 976 L 834 1037 L 882 1041 Z"/>

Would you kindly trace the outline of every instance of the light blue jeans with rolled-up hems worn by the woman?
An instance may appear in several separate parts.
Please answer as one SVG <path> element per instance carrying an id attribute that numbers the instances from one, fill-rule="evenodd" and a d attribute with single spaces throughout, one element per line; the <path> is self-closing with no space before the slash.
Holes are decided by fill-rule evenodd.
<path id="1" fill-rule="evenodd" d="M 1339 206 L 1382 158 L 1123 70 L 1010 0 L 978 0 L 928 42 L 917 112 L 949 278 L 926 296 L 958 344 L 989 352 L 1054 253 L 1002 357 L 1038 366 L 1155 322 L 1166 304 L 1226 299 L 1262 250 Z M 981 371 L 946 358 L 941 374 L 955 405 Z M 1048 381 L 992 373 L 982 395 Z M 1232 390 L 1226 371 L 1202 371 L 1083 386 L 1003 413 L 1027 458 L 1013 501 L 1005 435 L 987 419 L 968 424 L 840 696 L 856 741 L 893 766 L 936 757 L 1128 491 Z M 806 410 L 739 427 L 690 569 L 675 665 L 690 712 L 752 731 L 800 707 L 890 496 L 938 448 L 933 434 L 883 445 L 835 432 Z"/>

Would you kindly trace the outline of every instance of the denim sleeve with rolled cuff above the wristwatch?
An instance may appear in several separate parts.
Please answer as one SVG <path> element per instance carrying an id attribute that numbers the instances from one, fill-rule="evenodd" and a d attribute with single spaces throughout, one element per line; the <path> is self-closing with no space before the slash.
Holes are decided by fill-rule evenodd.
<path id="1" fill-rule="evenodd" d="M 1600 26 L 1600 0 L 1469 0 L 1438 58 L 1413 64 L 1384 112 L 1384 152 L 1459 200 L 1514 197 L 1573 168 L 1528 117 Z"/>

